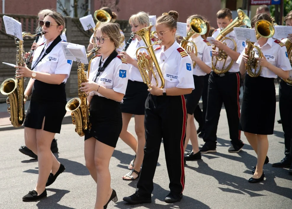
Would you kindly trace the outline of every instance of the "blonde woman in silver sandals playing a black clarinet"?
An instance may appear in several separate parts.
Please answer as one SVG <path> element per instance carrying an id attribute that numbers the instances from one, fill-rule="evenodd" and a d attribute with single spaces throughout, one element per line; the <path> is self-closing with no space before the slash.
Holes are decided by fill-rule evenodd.
<path id="1" fill-rule="evenodd" d="M 132 32 L 134 33 L 149 26 L 149 16 L 146 12 L 138 12 L 130 17 L 129 24 Z M 123 56 L 129 65 L 127 90 L 123 98 L 123 103 L 121 103 L 123 128 L 120 138 L 136 153 L 134 160 L 132 160 L 129 165 L 129 169 L 131 169 L 131 171 L 123 176 L 123 180 L 130 181 L 139 177 L 145 146 L 145 101 L 149 92 L 147 91 L 148 87 L 143 82 L 137 65 L 136 51 L 141 46 L 146 45 L 141 37 L 136 36 L 130 43 L 127 52 L 123 51 L 120 53 L 120 56 Z M 135 132 L 138 142 L 135 137 L 127 131 L 132 115 L 135 117 Z"/>

